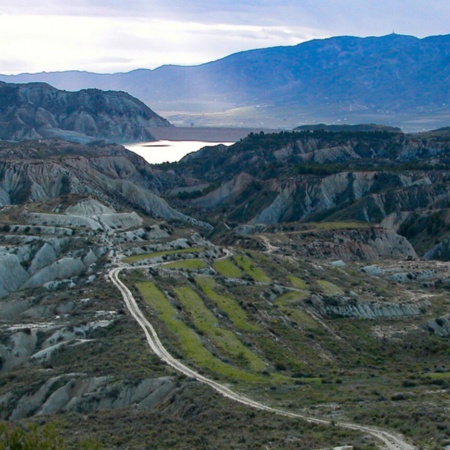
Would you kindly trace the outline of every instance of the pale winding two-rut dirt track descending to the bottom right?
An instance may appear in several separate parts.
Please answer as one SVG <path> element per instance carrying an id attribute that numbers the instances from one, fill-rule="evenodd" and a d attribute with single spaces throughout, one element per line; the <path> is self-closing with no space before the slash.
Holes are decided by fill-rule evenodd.
<path id="1" fill-rule="evenodd" d="M 154 266 L 156 266 L 156 265 L 154 265 Z M 147 267 L 151 267 L 151 266 L 147 266 Z M 144 267 L 140 266 L 137 268 L 142 269 Z M 318 419 L 316 417 L 309 417 L 309 416 L 305 416 L 303 414 L 285 411 L 283 409 L 272 408 L 270 406 L 264 405 L 263 403 L 259 403 L 248 397 L 245 397 L 242 394 L 233 392 L 226 386 L 224 386 L 214 380 L 211 380 L 207 377 L 204 377 L 203 375 L 200 375 L 199 373 L 197 373 L 194 370 L 190 369 L 189 367 L 185 366 L 182 362 L 178 361 L 172 355 L 170 355 L 170 353 L 164 348 L 161 341 L 159 340 L 158 335 L 156 334 L 155 329 L 150 324 L 150 322 L 145 318 L 145 316 L 143 315 L 139 306 L 137 305 L 133 294 L 125 286 L 125 284 L 119 279 L 119 273 L 123 269 L 133 269 L 133 268 L 132 267 L 116 267 L 114 269 L 111 269 L 108 273 L 109 278 L 121 292 L 122 297 L 125 301 L 125 304 L 126 304 L 128 310 L 130 311 L 131 315 L 133 316 L 133 318 L 144 330 L 148 345 L 150 346 L 152 351 L 159 358 L 161 358 L 164 362 L 166 362 L 169 366 L 173 367 L 177 371 L 183 373 L 184 375 L 186 375 L 188 377 L 194 378 L 202 383 L 205 383 L 205 384 L 211 386 L 213 389 L 215 389 L 217 392 L 219 392 L 224 397 L 227 397 L 231 400 L 242 403 L 244 405 L 251 406 L 252 408 L 260 409 L 263 411 L 268 411 L 268 412 L 278 414 L 281 416 L 302 419 L 302 420 L 305 420 L 310 423 L 318 423 L 318 424 L 323 424 L 323 425 L 332 425 L 333 424 L 335 426 L 347 428 L 349 430 L 361 431 L 363 433 L 370 434 L 375 439 L 377 439 L 379 442 L 383 443 L 384 448 L 386 448 L 388 450 L 416 450 L 417 449 L 417 447 L 414 447 L 414 446 L 408 444 L 401 435 L 398 435 L 398 434 L 395 434 L 392 432 L 388 432 L 388 431 L 384 431 L 384 430 L 381 430 L 378 428 L 368 427 L 365 425 L 358 425 L 358 424 L 349 423 L 349 422 L 340 422 L 340 421 L 332 423 L 329 420 Z"/>

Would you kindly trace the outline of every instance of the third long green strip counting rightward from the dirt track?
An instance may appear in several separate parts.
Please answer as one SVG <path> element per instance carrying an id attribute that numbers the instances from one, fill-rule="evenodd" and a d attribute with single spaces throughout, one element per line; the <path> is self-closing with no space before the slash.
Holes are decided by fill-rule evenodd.
<path id="1" fill-rule="evenodd" d="M 197 277 L 195 282 L 205 295 L 227 314 L 228 318 L 237 328 L 244 331 L 258 331 L 260 329 L 256 325 L 249 323 L 247 313 L 233 298 L 220 295 L 214 290 L 216 282 L 212 277 Z"/>

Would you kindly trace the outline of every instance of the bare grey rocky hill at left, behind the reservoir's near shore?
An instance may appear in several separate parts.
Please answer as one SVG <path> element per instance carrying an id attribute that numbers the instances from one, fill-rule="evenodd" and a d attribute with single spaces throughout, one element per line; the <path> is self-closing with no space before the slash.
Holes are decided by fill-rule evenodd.
<path id="1" fill-rule="evenodd" d="M 125 92 L 60 91 L 45 83 L 0 83 L 0 139 L 60 137 L 76 142 L 154 140 L 148 127 L 170 126 Z"/>

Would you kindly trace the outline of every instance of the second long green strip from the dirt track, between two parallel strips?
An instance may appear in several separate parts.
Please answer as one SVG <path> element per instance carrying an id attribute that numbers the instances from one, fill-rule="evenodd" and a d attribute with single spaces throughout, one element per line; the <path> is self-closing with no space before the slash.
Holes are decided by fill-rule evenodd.
<path id="1" fill-rule="evenodd" d="M 194 290 L 189 287 L 180 287 L 175 289 L 175 293 L 195 327 L 228 357 L 254 371 L 265 369 L 266 364 L 262 359 L 242 344 L 233 332 L 219 326 L 214 314 Z"/>

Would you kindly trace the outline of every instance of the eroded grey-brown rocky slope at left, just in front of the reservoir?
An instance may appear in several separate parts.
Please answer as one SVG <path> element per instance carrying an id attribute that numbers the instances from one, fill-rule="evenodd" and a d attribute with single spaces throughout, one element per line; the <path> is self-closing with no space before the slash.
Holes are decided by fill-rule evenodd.
<path id="1" fill-rule="evenodd" d="M 153 217 L 200 224 L 158 196 L 158 187 L 164 184 L 164 177 L 141 157 L 117 145 L 85 146 L 49 140 L 4 144 L 0 148 L 0 205 L 67 195 L 92 196 L 118 209 L 131 207 Z M 59 226 L 64 225 L 63 219 L 57 220 Z M 53 218 L 42 218 L 41 222 L 51 224 Z"/>

